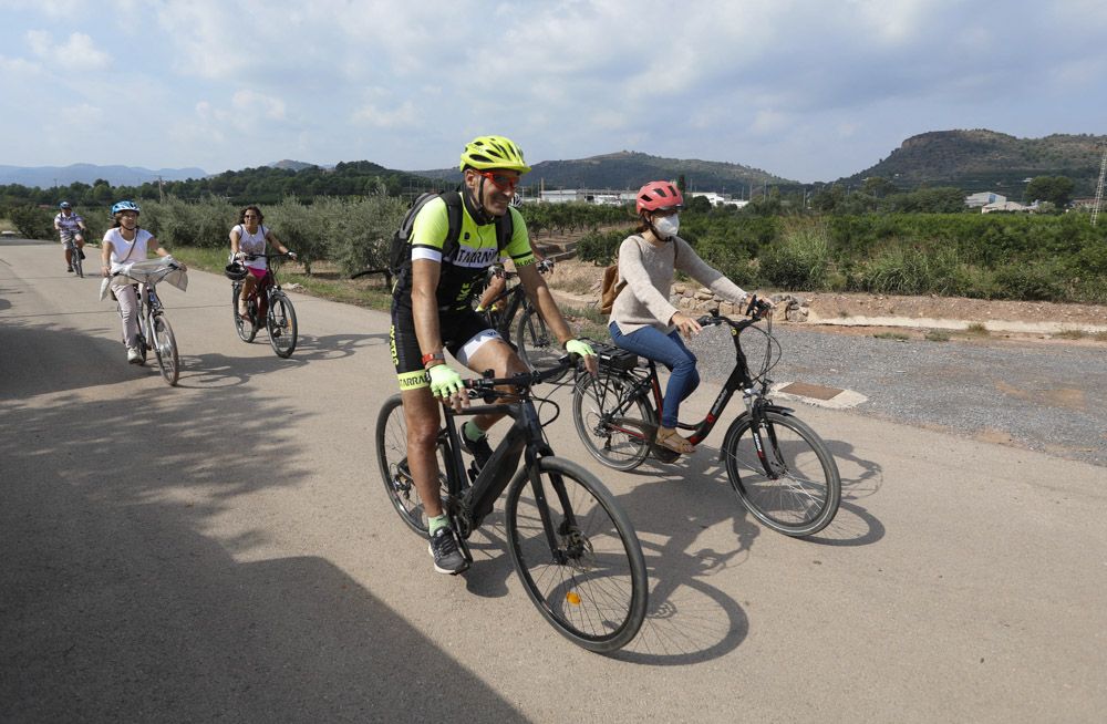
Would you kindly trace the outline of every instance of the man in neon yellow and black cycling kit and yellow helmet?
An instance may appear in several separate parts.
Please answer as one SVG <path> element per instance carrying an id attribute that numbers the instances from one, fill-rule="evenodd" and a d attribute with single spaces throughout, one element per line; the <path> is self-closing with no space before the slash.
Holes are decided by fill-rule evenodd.
<path id="1" fill-rule="evenodd" d="M 523 152 L 503 136 L 480 136 L 462 152 L 461 234 L 446 245 L 449 220 L 443 197 L 427 203 L 411 232 L 411 262 L 400 272 L 392 298 L 392 361 L 400 379 L 407 423 L 407 464 L 428 519 L 431 555 L 439 573 L 468 568 L 456 534 L 443 513 L 438 492 L 435 443 L 441 418 L 438 404 L 465 405 L 462 375 L 446 364 L 444 350 L 475 372 L 496 376 L 527 368 L 499 334 L 472 309 L 488 267 L 500 257 L 497 219 L 511 215 L 513 234 L 503 249 L 515 262 L 519 282 L 567 352 L 584 358 L 594 373 L 592 349 L 573 338 L 546 280 L 535 268 L 527 225 L 511 207 L 515 187 L 530 170 Z M 462 426 L 466 449 L 477 465 L 492 455 L 485 436 L 503 415 L 476 415 Z"/>

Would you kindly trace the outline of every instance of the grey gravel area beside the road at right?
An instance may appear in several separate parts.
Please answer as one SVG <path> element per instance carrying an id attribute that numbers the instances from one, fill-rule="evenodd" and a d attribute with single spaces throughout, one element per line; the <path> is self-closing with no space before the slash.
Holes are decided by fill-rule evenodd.
<path id="1" fill-rule="evenodd" d="M 852 390 L 868 397 L 857 414 L 1107 466 L 1103 348 L 897 341 L 795 327 L 774 332 L 783 350 L 769 374 L 775 382 Z M 743 342 L 754 366 L 764 345 L 748 332 Z M 701 376 L 725 380 L 733 366 L 725 330 L 704 330 L 690 347 Z"/>

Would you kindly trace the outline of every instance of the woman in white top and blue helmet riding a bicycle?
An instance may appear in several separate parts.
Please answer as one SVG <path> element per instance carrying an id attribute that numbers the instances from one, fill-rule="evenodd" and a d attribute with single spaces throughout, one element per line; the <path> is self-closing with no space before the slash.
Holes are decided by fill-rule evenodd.
<path id="1" fill-rule="evenodd" d="M 168 251 L 158 248 L 153 234 L 138 228 L 141 210 L 134 201 L 120 201 L 112 207 L 115 225 L 104 234 L 104 241 L 100 246 L 102 272 L 105 277 L 120 271 L 124 265 L 146 259 L 151 251 L 159 257 L 169 256 Z M 177 263 L 185 269 L 185 265 L 179 261 Z M 127 362 L 141 364 L 142 355 L 137 347 L 138 299 L 135 289 L 125 277 L 115 277 L 112 280 L 112 291 L 115 292 L 115 299 L 120 303 L 120 317 L 123 318 L 123 343 L 127 348 Z"/>

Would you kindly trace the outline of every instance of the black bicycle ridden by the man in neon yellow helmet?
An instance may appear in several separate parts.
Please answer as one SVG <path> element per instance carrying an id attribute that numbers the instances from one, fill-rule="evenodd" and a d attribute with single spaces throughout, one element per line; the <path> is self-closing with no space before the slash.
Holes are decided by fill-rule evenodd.
<path id="1" fill-rule="evenodd" d="M 556 457 L 544 433 L 552 418 L 542 422 L 535 401 L 552 405 L 554 418 L 557 405 L 536 397 L 531 387 L 571 366 L 565 359 L 541 372 L 466 381 L 469 397 L 485 404 L 461 412 L 445 408 L 437 437 L 439 483 L 444 509 L 470 562 L 469 536 L 507 492 L 508 550 L 527 596 L 561 635 L 606 653 L 630 642 L 642 625 L 645 560 L 611 493 L 583 467 Z M 507 413 L 513 424 L 485 466 L 466 474 L 456 418 L 489 412 Z M 399 394 L 385 401 L 377 416 L 376 456 L 396 513 L 426 538 L 426 515 L 407 466 L 407 426 Z"/>

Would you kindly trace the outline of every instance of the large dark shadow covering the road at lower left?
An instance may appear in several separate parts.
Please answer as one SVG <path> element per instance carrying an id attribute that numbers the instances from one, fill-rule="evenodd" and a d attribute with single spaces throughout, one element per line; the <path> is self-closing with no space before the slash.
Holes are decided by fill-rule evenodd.
<path id="1" fill-rule="evenodd" d="M 521 718 L 328 560 L 271 557 L 268 521 L 209 532 L 308 477 L 271 422 L 304 413 L 237 386 L 25 394 L 0 402 L 0 720 L 433 721 L 458 702 Z"/>

